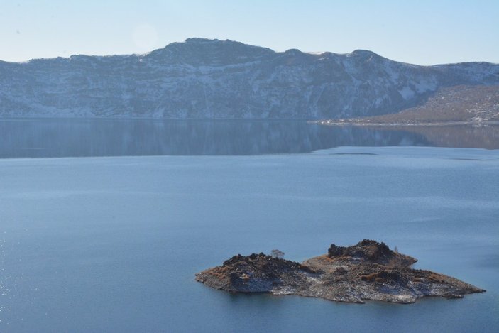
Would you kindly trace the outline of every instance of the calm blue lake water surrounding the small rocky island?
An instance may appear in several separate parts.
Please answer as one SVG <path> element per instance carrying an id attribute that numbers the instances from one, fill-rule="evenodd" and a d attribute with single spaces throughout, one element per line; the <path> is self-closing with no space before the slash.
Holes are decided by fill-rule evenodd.
<path id="1" fill-rule="evenodd" d="M 163 122 L 57 123 L 0 121 L 0 332 L 499 331 L 499 151 L 297 122 L 197 123 L 194 141 Z M 381 142 L 407 147 L 363 147 Z M 357 305 L 194 281 L 236 253 L 302 261 L 365 238 L 487 292 Z"/>

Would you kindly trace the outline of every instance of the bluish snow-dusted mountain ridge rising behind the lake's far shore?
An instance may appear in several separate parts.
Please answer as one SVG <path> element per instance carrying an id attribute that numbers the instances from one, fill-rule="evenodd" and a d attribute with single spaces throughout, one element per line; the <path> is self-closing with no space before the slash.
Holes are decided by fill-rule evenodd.
<path id="1" fill-rule="evenodd" d="M 0 116 L 339 119 L 497 84 L 499 65 L 488 62 L 420 66 L 368 50 L 279 53 L 190 38 L 142 55 L 0 62 Z"/>

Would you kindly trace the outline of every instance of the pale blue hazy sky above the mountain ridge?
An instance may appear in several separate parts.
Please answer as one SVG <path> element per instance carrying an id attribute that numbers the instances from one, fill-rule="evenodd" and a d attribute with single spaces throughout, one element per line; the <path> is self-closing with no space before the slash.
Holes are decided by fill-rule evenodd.
<path id="1" fill-rule="evenodd" d="M 0 60 L 145 53 L 190 37 L 283 51 L 499 62 L 499 0 L 0 0 Z"/>

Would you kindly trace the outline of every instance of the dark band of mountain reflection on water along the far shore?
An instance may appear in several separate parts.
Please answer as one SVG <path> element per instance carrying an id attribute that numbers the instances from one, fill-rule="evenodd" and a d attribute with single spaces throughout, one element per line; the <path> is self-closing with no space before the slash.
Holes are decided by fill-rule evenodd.
<path id="1" fill-rule="evenodd" d="M 260 155 L 336 146 L 499 148 L 499 126 L 379 129 L 306 121 L 0 120 L 0 158 Z"/>

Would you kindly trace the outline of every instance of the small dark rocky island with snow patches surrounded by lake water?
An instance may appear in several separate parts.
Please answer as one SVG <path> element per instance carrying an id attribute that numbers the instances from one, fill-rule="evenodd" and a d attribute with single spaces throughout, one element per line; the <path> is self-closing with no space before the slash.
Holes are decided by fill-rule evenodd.
<path id="1" fill-rule="evenodd" d="M 461 298 L 485 290 L 450 276 L 412 268 L 417 260 L 384 243 L 364 239 L 332 244 L 328 253 L 303 263 L 264 253 L 233 256 L 196 274 L 209 287 L 233 293 L 321 297 L 339 302 L 380 300 L 412 303 L 421 297 Z"/>

